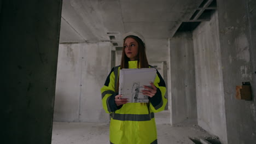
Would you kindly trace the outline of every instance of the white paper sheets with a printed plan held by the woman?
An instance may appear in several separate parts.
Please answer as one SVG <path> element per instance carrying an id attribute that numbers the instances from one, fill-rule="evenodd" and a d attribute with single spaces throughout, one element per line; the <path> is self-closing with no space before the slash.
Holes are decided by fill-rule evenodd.
<path id="1" fill-rule="evenodd" d="M 142 94 L 144 86 L 154 82 L 155 68 L 121 69 L 119 72 L 119 94 L 127 98 L 128 103 L 148 103 L 148 96 Z"/>

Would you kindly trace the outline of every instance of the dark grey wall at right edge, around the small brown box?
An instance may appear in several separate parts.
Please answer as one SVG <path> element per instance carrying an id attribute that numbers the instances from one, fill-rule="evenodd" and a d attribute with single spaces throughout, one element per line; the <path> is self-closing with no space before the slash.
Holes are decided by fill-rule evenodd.
<path id="1" fill-rule="evenodd" d="M 255 1 L 217 2 L 228 143 L 255 143 L 255 92 L 252 101 L 235 98 L 235 87 L 243 81 L 255 90 L 255 42 L 249 42 L 255 41 Z"/>

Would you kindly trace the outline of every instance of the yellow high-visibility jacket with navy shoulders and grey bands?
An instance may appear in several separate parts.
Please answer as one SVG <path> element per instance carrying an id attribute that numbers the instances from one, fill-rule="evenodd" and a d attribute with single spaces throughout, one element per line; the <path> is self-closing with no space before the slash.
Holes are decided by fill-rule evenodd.
<path id="1" fill-rule="evenodd" d="M 152 67 L 152 66 L 150 66 Z M 137 68 L 137 61 L 129 61 L 129 68 Z M 110 113 L 109 139 L 114 144 L 149 144 L 158 143 L 154 112 L 165 109 L 165 82 L 159 72 L 156 72 L 154 85 L 157 88 L 154 97 L 149 97 L 149 103 L 115 104 L 115 83 L 119 77 L 120 66 L 114 67 L 101 88 L 102 105 Z"/>

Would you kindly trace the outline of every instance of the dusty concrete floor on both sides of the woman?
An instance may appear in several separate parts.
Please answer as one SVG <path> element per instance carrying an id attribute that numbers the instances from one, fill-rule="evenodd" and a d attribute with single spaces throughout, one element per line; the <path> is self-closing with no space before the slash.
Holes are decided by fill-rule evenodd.
<path id="1" fill-rule="evenodd" d="M 155 113 L 160 144 L 193 143 L 188 137 L 213 137 L 197 125 L 171 126 L 168 111 Z M 52 144 L 109 143 L 109 124 L 54 122 Z"/>

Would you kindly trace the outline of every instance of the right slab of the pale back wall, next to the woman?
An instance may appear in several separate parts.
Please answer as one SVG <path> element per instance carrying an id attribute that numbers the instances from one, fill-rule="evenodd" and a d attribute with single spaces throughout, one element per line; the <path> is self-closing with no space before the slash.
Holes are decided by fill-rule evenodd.
<path id="1" fill-rule="evenodd" d="M 80 99 L 81 122 L 108 122 L 109 114 L 102 107 L 101 87 L 110 68 L 111 43 L 88 44 L 83 53 L 82 88 Z"/>

